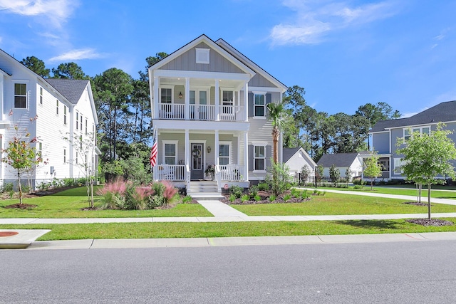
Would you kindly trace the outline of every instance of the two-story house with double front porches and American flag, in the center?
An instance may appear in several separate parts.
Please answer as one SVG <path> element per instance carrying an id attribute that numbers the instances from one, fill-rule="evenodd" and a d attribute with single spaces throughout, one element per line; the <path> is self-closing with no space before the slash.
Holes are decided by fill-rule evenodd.
<path id="1" fill-rule="evenodd" d="M 264 179 L 272 151 L 266 104 L 282 100 L 284 84 L 223 39 L 205 35 L 150 66 L 149 80 L 155 180 L 191 190 L 211 165 L 214 192 Z"/>

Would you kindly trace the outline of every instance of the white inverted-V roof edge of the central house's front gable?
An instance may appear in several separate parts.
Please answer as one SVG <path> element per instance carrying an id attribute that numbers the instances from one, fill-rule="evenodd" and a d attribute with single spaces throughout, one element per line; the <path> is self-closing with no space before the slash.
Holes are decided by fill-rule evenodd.
<path id="1" fill-rule="evenodd" d="M 173 59 L 177 58 L 181 54 L 185 53 L 186 51 L 190 50 L 191 48 L 197 46 L 199 43 L 204 42 L 206 43 L 210 48 L 214 49 L 214 51 L 219 52 L 227 58 L 228 61 L 236 65 L 238 68 L 244 71 L 244 73 L 250 74 L 250 77 L 252 78 L 255 75 L 254 70 L 249 68 L 249 66 L 245 65 L 242 63 L 242 61 L 239 61 L 236 57 L 234 57 L 231 53 L 227 52 L 219 46 L 217 43 L 215 43 L 211 38 L 207 37 L 206 35 L 202 34 L 201 36 L 195 38 L 194 40 L 190 41 L 187 43 L 185 46 L 182 46 L 181 48 L 177 49 L 176 51 L 170 53 L 168 56 L 163 58 L 162 60 L 158 61 L 157 63 L 154 63 L 153 65 L 150 65 L 149 70 L 153 67 L 153 69 L 157 69 L 162 67 L 163 65 L 169 63 Z"/>

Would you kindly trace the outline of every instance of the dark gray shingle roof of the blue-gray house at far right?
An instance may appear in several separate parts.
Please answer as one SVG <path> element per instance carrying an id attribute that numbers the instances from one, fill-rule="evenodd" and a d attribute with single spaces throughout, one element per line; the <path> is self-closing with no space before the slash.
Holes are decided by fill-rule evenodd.
<path id="1" fill-rule="evenodd" d="M 390 127 L 407 127 L 450 121 L 456 121 L 456 100 L 439 103 L 411 117 L 398 120 L 380 120 L 372 127 L 370 132 L 381 132 Z"/>

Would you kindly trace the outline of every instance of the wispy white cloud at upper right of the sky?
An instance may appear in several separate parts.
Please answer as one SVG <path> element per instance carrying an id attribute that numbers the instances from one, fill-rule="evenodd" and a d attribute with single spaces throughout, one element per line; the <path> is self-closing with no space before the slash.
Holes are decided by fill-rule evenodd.
<path id="1" fill-rule="evenodd" d="M 350 26 L 359 26 L 396 14 L 392 2 L 383 1 L 350 7 L 348 4 L 330 1 L 285 0 L 284 6 L 296 13 L 293 21 L 280 23 L 271 29 L 273 45 L 319 43 L 330 31 Z"/>

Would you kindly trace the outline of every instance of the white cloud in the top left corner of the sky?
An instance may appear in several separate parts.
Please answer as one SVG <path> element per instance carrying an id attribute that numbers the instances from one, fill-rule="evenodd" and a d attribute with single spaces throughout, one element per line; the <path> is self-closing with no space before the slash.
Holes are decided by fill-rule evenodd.
<path id="1" fill-rule="evenodd" d="M 43 16 L 60 27 L 78 6 L 78 0 L 0 0 L 0 10 L 23 16 Z"/>

